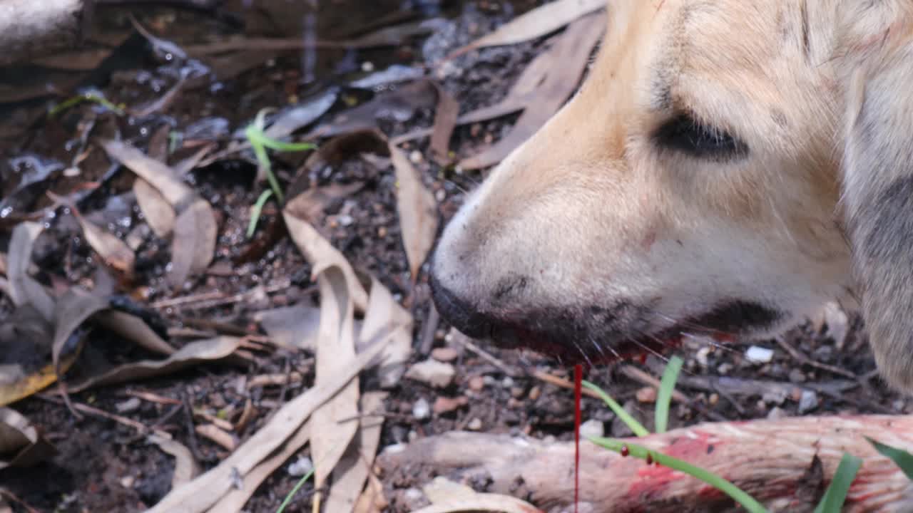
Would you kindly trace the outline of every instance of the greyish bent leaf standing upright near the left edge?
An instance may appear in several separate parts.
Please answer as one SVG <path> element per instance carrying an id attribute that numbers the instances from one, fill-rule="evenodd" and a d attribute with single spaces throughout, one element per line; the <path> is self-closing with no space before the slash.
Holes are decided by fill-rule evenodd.
<path id="1" fill-rule="evenodd" d="M 38 223 L 20 223 L 13 228 L 6 257 L 6 277 L 9 279 L 10 297 L 17 307 L 31 305 L 47 320 L 54 318 L 54 298 L 35 279 L 28 276 L 32 263 L 32 246 L 43 230 Z"/>

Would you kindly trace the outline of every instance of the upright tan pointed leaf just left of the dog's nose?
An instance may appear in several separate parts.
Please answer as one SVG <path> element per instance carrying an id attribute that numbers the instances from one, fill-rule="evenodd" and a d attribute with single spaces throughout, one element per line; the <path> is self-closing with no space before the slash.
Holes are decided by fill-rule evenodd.
<path id="1" fill-rule="evenodd" d="M 437 235 L 437 204 L 435 196 L 425 188 L 418 170 L 409 162 L 403 150 L 390 145 L 390 156 L 396 170 L 396 210 L 403 228 L 405 256 L 409 260 L 412 279 L 425 263 Z"/>

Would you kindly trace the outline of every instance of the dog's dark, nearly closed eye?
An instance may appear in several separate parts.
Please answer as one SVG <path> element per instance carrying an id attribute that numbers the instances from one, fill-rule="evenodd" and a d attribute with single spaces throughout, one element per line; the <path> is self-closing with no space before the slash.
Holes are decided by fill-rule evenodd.
<path id="1" fill-rule="evenodd" d="M 703 159 L 729 159 L 748 154 L 748 144 L 698 122 L 688 114 L 666 121 L 653 135 L 660 148 L 677 150 Z"/>

